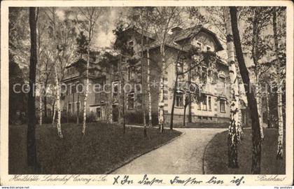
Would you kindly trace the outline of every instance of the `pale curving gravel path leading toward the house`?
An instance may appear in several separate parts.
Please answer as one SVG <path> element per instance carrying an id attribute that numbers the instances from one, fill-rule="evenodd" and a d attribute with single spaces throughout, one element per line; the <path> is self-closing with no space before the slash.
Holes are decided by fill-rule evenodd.
<path id="1" fill-rule="evenodd" d="M 176 129 L 181 137 L 140 156 L 111 174 L 203 174 L 203 155 L 209 141 L 225 129 Z"/>

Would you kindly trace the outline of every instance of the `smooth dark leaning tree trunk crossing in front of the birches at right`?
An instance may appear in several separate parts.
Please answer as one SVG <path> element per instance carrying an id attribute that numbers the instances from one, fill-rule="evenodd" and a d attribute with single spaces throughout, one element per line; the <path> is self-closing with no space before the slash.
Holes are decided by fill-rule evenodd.
<path id="1" fill-rule="evenodd" d="M 249 87 L 251 86 L 248 70 L 244 62 L 243 52 L 241 48 L 241 41 L 239 36 L 238 21 L 237 21 L 237 8 L 230 6 L 230 16 L 232 22 L 232 34 L 235 44 L 235 50 L 237 55 L 237 60 L 239 63 L 239 70 L 244 83 L 244 88 L 246 91 L 246 97 L 248 100 L 248 106 L 251 110 L 251 124 L 252 124 L 252 174 L 260 174 L 260 159 L 261 159 L 261 138 L 260 138 L 260 125 L 258 120 L 258 108 L 256 104 L 256 99 L 254 94 L 250 92 Z"/>

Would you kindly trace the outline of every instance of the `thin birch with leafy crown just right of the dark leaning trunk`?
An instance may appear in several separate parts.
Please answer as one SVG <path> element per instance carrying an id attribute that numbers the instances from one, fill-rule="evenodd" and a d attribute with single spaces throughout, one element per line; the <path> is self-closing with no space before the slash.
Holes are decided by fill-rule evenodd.
<path id="1" fill-rule="evenodd" d="M 261 84 L 262 84 L 262 74 L 268 69 L 270 64 L 265 64 L 267 62 L 262 61 L 262 57 L 267 55 L 268 51 L 271 51 L 269 46 L 269 41 L 263 31 L 269 27 L 270 19 L 272 16 L 272 8 L 269 7 L 248 7 L 243 8 L 240 17 L 247 23 L 244 31 L 244 45 L 251 51 L 251 57 L 253 59 L 253 73 L 255 73 L 255 95 L 256 102 L 258 104 L 258 118 L 260 122 L 260 134 L 261 138 L 264 139 L 263 134 L 263 118 L 262 118 L 262 94 L 261 94 Z"/>

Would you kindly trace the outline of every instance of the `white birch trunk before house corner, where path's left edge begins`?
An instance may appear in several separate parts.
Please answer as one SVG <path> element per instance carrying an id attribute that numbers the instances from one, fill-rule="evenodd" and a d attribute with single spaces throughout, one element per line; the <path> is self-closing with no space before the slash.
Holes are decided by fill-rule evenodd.
<path id="1" fill-rule="evenodd" d="M 162 75 L 160 76 L 160 92 L 158 95 L 158 123 L 160 125 L 160 132 L 164 131 L 165 125 L 165 116 L 164 116 L 164 108 L 165 108 L 165 44 L 160 46 L 160 53 L 162 55 Z M 171 128 L 172 130 L 172 128 Z"/>

